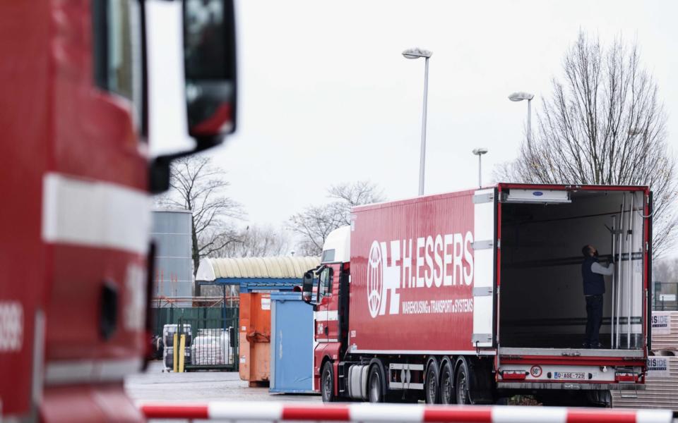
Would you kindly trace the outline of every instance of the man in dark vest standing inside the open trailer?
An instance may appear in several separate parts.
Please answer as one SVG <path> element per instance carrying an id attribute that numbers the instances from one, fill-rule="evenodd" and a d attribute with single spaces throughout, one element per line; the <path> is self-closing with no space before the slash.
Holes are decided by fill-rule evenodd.
<path id="1" fill-rule="evenodd" d="M 602 295 L 605 293 L 603 275 L 614 273 L 614 264 L 605 267 L 598 263 L 598 251 L 593 245 L 584 245 L 581 249 L 584 262 L 581 264 L 581 278 L 584 283 L 586 298 L 586 338 L 584 348 L 602 348 L 598 339 L 602 324 Z"/>

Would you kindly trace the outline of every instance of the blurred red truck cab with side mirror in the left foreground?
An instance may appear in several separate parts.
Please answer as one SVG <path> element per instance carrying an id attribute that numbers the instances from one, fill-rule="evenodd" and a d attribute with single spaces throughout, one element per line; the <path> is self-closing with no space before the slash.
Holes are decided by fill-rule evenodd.
<path id="1" fill-rule="evenodd" d="M 232 1 L 186 0 L 183 49 L 206 149 L 235 126 Z M 148 153 L 146 51 L 143 0 L 0 5 L 0 420 L 143 420 L 150 194 L 195 151 Z"/>

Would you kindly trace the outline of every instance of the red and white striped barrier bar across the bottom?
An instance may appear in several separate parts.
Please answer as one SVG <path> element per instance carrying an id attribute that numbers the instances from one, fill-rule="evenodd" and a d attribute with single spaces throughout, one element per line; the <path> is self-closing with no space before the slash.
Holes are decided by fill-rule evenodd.
<path id="1" fill-rule="evenodd" d="M 459 406 L 418 404 L 295 404 L 213 402 L 203 404 L 141 403 L 148 419 L 228 419 L 258 421 L 403 422 L 403 423 L 671 423 L 668 410 L 605 408 Z"/>

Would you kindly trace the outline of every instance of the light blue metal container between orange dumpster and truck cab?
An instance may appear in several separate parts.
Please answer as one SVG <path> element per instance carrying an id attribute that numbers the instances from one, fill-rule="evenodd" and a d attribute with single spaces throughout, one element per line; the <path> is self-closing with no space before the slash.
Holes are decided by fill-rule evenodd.
<path id="1" fill-rule="evenodd" d="M 313 392 L 313 307 L 302 293 L 270 293 L 270 388 Z"/>

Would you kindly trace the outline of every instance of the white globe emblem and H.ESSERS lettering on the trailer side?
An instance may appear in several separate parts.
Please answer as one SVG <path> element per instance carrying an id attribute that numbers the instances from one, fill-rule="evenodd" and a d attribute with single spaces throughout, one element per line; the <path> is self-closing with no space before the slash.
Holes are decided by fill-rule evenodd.
<path id="1" fill-rule="evenodd" d="M 367 257 L 367 307 L 371 317 L 386 314 L 387 302 L 388 314 L 398 314 L 399 290 L 470 286 L 472 242 L 470 232 L 429 235 L 416 241 L 375 240 Z"/>

